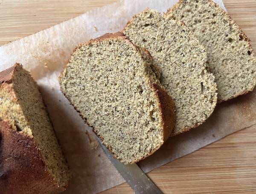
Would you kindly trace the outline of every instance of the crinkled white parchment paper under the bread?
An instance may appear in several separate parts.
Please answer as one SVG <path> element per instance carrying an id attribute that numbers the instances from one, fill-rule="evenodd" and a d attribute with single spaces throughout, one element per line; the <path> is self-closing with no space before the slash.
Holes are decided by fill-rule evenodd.
<path id="1" fill-rule="evenodd" d="M 224 10 L 223 2 L 215 0 Z M 35 35 L 0 47 L 0 70 L 23 64 L 39 84 L 73 179 L 64 194 L 97 193 L 124 182 L 93 139 L 91 128 L 59 90 L 58 75 L 78 43 L 121 30 L 146 7 L 166 12 L 177 0 L 123 0 L 87 12 Z M 152 156 L 139 163 L 144 171 L 191 153 L 230 133 L 256 123 L 256 92 L 218 104 L 203 125 L 169 138 Z"/>

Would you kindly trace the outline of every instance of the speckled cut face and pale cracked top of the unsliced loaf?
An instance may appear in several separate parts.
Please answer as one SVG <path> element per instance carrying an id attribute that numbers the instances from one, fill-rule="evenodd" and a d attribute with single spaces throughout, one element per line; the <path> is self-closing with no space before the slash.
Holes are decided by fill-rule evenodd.
<path id="1" fill-rule="evenodd" d="M 0 119 L 10 123 L 17 132 L 35 140 L 52 180 L 64 190 L 71 174 L 38 86 L 20 64 L 15 64 L 10 76 L 7 82 L 0 83 Z"/>

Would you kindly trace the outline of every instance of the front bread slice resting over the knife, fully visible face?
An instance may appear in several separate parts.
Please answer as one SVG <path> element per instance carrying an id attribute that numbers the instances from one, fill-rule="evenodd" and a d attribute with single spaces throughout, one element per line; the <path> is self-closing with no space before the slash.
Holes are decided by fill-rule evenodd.
<path id="1" fill-rule="evenodd" d="M 106 34 L 77 46 L 59 78 L 70 103 L 124 163 L 154 153 L 175 123 L 150 57 L 122 33 Z"/>

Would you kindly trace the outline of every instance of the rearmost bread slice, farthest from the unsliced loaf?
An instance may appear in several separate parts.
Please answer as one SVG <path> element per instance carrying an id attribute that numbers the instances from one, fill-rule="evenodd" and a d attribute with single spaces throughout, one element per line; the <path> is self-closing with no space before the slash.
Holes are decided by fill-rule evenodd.
<path id="1" fill-rule="evenodd" d="M 218 102 L 253 90 L 256 55 L 250 40 L 216 3 L 180 0 L 166 16 L 183 21 L 206 48 L 209 71 L 218 87 Z"/>

